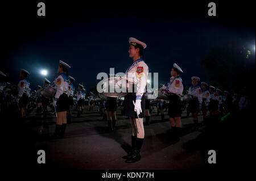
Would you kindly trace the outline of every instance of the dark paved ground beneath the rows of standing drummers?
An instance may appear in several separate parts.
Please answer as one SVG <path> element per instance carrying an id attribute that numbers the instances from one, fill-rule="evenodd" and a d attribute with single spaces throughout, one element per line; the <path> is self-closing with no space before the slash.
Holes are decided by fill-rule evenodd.
<path id="1" fill-rule="evenodd" d="M 176 144 L 170 141 L 171 125 L 166 115 L 166 120 L 160 121 L 156 110 L 151 114 L 151 124 L 144 126 L 145 140 L 142 146 L 142 159 L 135 163 L 125 163 L 122 159 L 130 149 L 131 125 L 129 119 L 117 111 L 117 131 L 105 133 L 106 121 L 98 113 L 98 107 L 88 111 L 85 107 L 80 118 L 76 118 L 73 110 L 73 123 L 67 125 L 65 137 L 51 140 L 49 136 L 55 131 L 55 112 L 49 108 L 47 119 L 42 118 L 42 113 L 30 109 L 23 127 L 17 126 L 19 120 L 7 119 L 4 123 L 3 133 L 6 144 L 3 146 L 2 155 L 6 155 L 6 167 L 16 168 L 45 168 L 45 169 L 208 169 L 208 150 L 218 149 L 218 162 L 221 157 L 226 157 L 225 151 L 230 145 L 226 140 L 224 146 L 207 142 L 196 142 L 204 127 L 193 132 L 192 117 L 185 118 L 182 114 L 181 123 L 183 132 L 181 140 Z M 167 112 L 165 112 L 167 114 Z M 13 113 L 15 115 L 15 113 Z M 14 117 L 12 117 L 14 119 Z M 201 123 L 202 117 L 199 116 Z M 14 126 L 15 125 L 15 126 Z M 216 132 L 220 132 L 217 131 Z M 229 135 L 229 134 L 227 134 Z M 215 146 L 215 147 L 214 147 Z M 205 149 L 207 148 L 207 149 Z M 209 148 L 209 149 L 208 149 Z M 37 151 L 46 151 L 46 164 L 37 163 Z M 230 158 L 232 159 L 232 158 Z M 222 164 L 224 165 L 224 164 Z M 225 165 L 224 165 L 225 166 Z"/>

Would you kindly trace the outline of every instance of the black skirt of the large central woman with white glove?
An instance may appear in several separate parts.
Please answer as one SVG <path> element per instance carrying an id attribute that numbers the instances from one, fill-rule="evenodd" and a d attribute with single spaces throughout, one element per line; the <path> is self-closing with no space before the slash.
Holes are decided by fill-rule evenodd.
<path id="1" fill-rule="evenodd" d="M 137 113 L 134 111 L 134 104 L 136 101 L 136 93 L 135 92 L 129 92 L 125 96 L 125 116 L 132 117 L 132 118 L 138 118 Z M 141 99 L 141 109 L 142 112 L 139 114 L 139 118 L 142 118 L 145 116 L 145 96 L 143 94 Z"/>

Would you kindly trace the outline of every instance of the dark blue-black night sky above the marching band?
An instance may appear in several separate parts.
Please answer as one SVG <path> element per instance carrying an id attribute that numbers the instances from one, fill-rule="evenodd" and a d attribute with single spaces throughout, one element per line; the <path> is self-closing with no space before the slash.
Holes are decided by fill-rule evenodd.
<path id="1" fill-rule="evenodd" d="M 40 1 L 38 1 L 40 2 Z M 53 81 L 59 60 L 71 65 L 69 74 L 86 90 L 96 86 L 101 71 L 124 72 L 132 60 L 129 37 L 147 44 L 145 61 L 159 83 L 170 79 L 172 64 L 184 71 L 184 85 L 191 76 L 207 79 L 200 60 L 216 45 L 239 41 L 255 45 L 253 7 L 249 3 L 217 4 L 217 17 L 209 17 L 208 2 L 164 4 L 89 4 L 70 1 L 46 3 L 46 17 L 36 15 L 37 1 L 2 4 L 1 68 L 7 80 L 18 83 L 19 69 L 30 71 L 32 90 L 42 85 L 40 70 Z M 133 7 L 133 8 L 132 8 Z M 255 52 L 253 52 L 255 54 Z M 254 64 L 255 65 L 255 64 Z"/>

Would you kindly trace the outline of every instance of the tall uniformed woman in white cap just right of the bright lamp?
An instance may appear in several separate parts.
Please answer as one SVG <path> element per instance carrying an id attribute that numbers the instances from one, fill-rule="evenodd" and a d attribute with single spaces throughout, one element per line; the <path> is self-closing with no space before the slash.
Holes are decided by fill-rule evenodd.
<path id="1" fill-rule="evenodd" d="M 68 68 L 67 63 L 59 61 L 58 75 L 55 79 L 56 94 L 53 100 L 53 107 L 56 107 L 57 122 L 55 137 L 63 138 L 67 126 L 68 111 Z"/>

